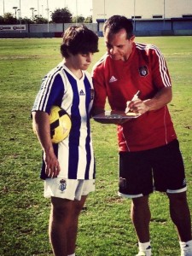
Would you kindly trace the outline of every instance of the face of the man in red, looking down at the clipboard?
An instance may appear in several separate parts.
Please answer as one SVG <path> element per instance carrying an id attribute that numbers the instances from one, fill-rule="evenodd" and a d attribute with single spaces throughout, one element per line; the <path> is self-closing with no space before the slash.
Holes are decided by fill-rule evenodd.
<path id="1" fill-rule="evenodd" d="M 115 60 L 127 61 L 132 52 L 132 44 L 135 36 L 127 39 L 125 29 L 119 30 L 119 32 L 112 34 L 107 28 L 104 39 L 108 49 L 108 55 Z"/>

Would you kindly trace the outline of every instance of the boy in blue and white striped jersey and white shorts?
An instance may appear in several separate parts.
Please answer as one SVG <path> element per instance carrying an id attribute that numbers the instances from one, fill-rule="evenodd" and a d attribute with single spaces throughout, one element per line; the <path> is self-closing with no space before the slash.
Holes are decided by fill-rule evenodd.
<path id="1" fill-rule="evenodd" d="M 43 80 L 32 108 L 33 126 L 44 151 L 41 177 L 51 198 L 49 239 L 55 256 L 74 256 L 79 213 L 95 190 L 95 160 L 90 136 L 93 84 L 90 73 L 98 37 L 86 26 L 71 26 L 63 36 L 63 61 Z M 51 143 L 49 113 L 59 106 L 71 117 L 69 136 Z"/>

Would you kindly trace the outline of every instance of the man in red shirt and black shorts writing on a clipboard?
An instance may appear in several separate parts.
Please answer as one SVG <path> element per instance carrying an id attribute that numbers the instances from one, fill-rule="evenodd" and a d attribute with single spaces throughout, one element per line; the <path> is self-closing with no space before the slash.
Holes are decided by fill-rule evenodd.
<path id="1" fill-rule="evenodd" d="M 107 54 L 93 68 L 93 113 L 104 111 L 108 97 L 113 111 L 125 112 L 126 108 L 141 114 L 118 125 L 119 195 L 131 198 L 137 255 L 152 255 L 148 195 L 155 189 L 166 192 L 169 198 L 181 255 L 192 256 L 183 159 L 167 108 L 172 100 L 172 84 L 166 61 L 154 45 L 134 42 L 131 20 L 124 16 L 109 18 L 103 33 Z M 139 98 L 131 101 L 137 91 Z"/>

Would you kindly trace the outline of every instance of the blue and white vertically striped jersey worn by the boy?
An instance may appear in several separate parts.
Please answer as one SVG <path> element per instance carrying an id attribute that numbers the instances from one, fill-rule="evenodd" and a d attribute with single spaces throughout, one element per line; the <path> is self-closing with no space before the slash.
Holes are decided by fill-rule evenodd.
<path id="1" fill-rule="evenodd" d="M 65 109 L 71 116 L 69 136 L 54 144 L 61 172 L 58 177 L 69 179 L 95 178 L 95 159 L 90 134 L 90 109 L 93 103 L 93 85 L 90 73 L 82 71 L 77 79 L 62 61 L 43 79 L 32 111 L 50 112 L 53 105 Z M 46 178 L 44 164 L 42 178 Z"/>

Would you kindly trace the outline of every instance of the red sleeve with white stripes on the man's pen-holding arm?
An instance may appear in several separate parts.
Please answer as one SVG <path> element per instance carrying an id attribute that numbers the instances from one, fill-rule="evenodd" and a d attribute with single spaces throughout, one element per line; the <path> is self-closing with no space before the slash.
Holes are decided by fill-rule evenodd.
<path id="1" fill-rule="evenodd" d="M 171 87 L 172 82 L 166 66 L 166 60 L 160 52 L 160 49 L 155 46 L 151 48 L 151 61 L 154 86 L 157 87 L 157 89 Z"/>

